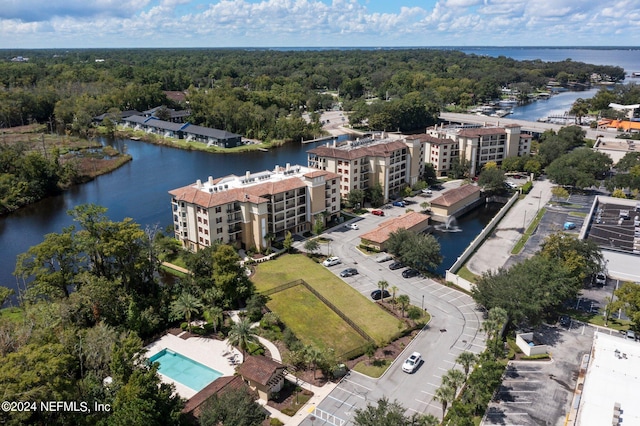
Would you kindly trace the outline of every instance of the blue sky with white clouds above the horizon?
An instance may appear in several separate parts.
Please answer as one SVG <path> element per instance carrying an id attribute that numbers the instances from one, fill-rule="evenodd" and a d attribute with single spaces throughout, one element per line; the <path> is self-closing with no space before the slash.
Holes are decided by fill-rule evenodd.
<path id="1" fill-rule="evenodd" d="M 640 0 L 4 0 L 0 48 L 639 46 Z"/>

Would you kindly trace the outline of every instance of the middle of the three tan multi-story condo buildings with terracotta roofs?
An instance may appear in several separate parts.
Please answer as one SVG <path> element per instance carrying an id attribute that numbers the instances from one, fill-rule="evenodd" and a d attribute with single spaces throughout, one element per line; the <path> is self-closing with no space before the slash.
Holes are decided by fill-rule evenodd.
<path id="1" fill-rule="evenodd" d="M 390 139 L 383 134 L 308 151 L 308 165 L 340 175 L 340 196 L 353 189 L 380 184 L 385 201 L 407 185 L 413 185 L 424 168 L 424 147 L 420 138 Z"/>

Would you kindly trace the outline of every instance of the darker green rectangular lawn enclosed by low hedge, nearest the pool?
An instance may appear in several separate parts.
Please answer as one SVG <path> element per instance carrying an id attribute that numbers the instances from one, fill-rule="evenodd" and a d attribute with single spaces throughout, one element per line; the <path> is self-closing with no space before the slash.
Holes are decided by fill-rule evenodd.
<path id="1" fill-rule="evenodd" d="M 269 297 L 269 309 L 276 312 L 280 320 L 306 345 L 320 349 L 333 348 L 340 355 L 367 343 L 338 314 L 302 285 Z M 292 306 L 295 309 L 291 309 Z"/>

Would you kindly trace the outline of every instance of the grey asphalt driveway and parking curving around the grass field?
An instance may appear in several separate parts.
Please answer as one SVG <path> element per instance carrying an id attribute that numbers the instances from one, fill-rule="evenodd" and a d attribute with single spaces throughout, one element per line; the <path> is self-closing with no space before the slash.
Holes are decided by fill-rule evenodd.
<path id="1" fill-rule="evenodd" d="M 358 275 L 344 280 L 368 298 L 371 291 L 377 289 L 378 281 L 386 280 L 390 286 L 398 287 L 397 294 L 407 294 L 413 305 L 427 309 L 432 315 L 431 323 L 407 345 L 384 376 L 372 379 L 352 372 L 313 414 L 307 416 L 303 425 L 347 424 L 355 409 L 364 408 L 367 403 L 375 404 L 382 396 L 391 401 L 398 400 L 409 414 L 431 413 L 439 417 L 441 405 L 433 401 L 433 395 L 442 376 L 447 370 L 456 368 L 455 359 L 461 352 L 480 353 L 485 348 L 486 336 L 479 331 L 482 312 L 476 310 L 470 296 L 428 278 L 405 279 L 402 269 L 391 271 L 390 262 L 376 263 L 375 254 L 367 256 L 356 248 L 359 235 L 374 229 L 390 216 L 403 214 L 405 209 L 393 207 L 384 211 L 386 217 L 366 214 L 354 220 L 358 230 L 339 227 L 324 235 L 332 239 L 331 254 L 342 260 L 342 264 L 329 269 L 339 274 L 345 268 L 357 268 Z M 402 362 L 413 351 L 420 352 L 424 362 L 414 374 L 406 374 L 402 372 Z"/>

